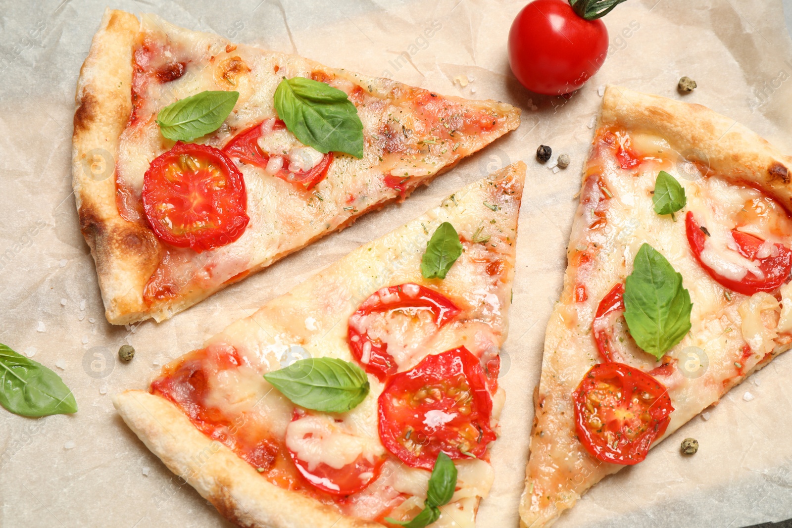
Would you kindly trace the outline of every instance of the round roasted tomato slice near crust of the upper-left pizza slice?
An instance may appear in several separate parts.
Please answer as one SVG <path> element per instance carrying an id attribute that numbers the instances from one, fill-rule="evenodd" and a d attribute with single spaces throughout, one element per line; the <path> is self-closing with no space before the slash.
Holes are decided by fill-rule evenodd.
<path id="1" fill-rule="evenodd" d="M 154 158 L 143 176 L 143 211 L 157 237 L 201 253 L 245 232 L 247 193 L 242 173 L 222 151 L 177 142 Z"/>

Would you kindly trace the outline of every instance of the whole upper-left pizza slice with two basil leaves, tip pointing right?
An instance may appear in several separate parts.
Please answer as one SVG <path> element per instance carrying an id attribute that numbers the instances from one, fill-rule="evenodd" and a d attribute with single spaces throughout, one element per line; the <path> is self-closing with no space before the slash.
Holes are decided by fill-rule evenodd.
<path id="1" fill-rule="evenodd" d="M 171 317 L 404 199 L 519 116 L 108 10 L 72 162 L 108 321 Z"/>

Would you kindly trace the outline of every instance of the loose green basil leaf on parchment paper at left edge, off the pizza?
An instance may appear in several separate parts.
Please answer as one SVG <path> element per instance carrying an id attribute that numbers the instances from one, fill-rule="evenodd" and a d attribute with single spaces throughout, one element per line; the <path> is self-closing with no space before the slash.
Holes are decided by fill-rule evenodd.
<path id="1" fill-rule="evenodd" d="M 74 394 L 58 374 L 0 344 L 0 405 L 21 416 L 77 412 Z"/>

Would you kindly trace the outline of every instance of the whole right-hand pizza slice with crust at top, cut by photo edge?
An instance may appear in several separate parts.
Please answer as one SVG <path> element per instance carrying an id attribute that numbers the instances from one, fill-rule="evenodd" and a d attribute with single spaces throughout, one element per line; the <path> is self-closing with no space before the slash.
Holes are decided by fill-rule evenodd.
<path id="1" fill-rule="evenodd" d="M 550 526 L 792 344 L 792 158 L 610 86 L 547 325 L 520 504 Z"/>

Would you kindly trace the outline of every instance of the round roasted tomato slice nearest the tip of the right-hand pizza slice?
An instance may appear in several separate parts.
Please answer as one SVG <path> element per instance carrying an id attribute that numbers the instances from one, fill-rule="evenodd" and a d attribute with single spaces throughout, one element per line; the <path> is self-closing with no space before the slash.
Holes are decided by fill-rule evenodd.
<path id="1" fill-rule="evenodd" d="M 638 464 L 671 420 L 668 390 L 642 370 L 599 363 L 573 393 L 577 437 L 592 457 Z"/>

